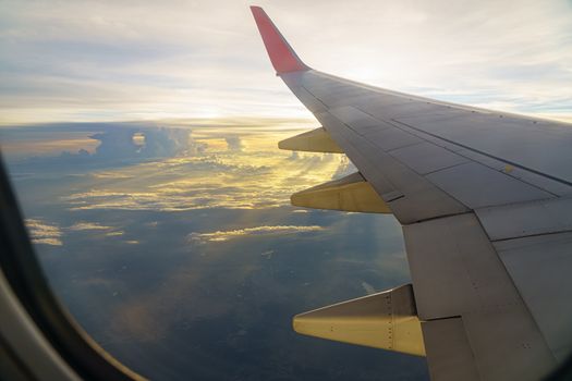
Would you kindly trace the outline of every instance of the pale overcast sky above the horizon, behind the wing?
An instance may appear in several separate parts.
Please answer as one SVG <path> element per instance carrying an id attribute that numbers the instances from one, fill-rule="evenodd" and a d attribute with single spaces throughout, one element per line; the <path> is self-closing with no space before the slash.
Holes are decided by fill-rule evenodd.
<path id="1" fill-rule="evenodd" d="M 307 118 L 245 0 L 0 0 L 0 124 Z M 260 0 L 311 66 L 572 120 L 570 0 Z"/>

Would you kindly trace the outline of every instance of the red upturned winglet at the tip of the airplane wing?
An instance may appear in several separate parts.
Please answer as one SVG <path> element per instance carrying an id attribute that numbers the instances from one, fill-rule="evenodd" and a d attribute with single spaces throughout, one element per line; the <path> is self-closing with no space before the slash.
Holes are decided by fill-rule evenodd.
<path id="1" fill-rule="evenodd" d="M 308 70 L 260 7 L 251 7 L 266 51 L 278 74 Z"/>

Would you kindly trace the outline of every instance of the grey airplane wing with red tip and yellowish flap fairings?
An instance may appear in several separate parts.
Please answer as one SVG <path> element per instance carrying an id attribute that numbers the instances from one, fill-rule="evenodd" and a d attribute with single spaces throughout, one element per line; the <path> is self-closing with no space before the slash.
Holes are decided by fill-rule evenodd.
<path id="1" fill-rule="evenodd" d="M 412 285 L 299 315 L 297 332 L 426 356 L 433 380 L 537 380 L 572 348 L 572 128 L 367 86 L 304 64 L 252 7 L 270 61 L 321 123 L 280 148 L 358 169 L 292 196 L 392 213 Z"/>

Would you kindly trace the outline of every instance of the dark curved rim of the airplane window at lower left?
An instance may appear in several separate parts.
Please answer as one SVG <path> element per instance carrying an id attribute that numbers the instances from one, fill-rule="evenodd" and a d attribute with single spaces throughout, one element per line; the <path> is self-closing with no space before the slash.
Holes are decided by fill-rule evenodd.
<path id="1" fill-rule="evenodd" d="M 12 292 L 51 347 L 82 379 L 145 380 L 101 348 L 58 300 L 41 270 L 22 216 L 0 157 L 0 268 Z M 9 349 L 5 345 L 2 347 Z M 8 367 L 8 362 L 12 369 L 21 368 L 17 359 L 9 358 L 4 366 Z"/>

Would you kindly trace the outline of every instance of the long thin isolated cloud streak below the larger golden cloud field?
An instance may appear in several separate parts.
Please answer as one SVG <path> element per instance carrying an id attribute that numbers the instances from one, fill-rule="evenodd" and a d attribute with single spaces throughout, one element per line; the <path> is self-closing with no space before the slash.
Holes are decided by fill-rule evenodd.
<path id="1" fill-rule="evenodd" d="M 206 244 L 209 242 L 227 242 L 233 238 L 244 236 L 266 236 L 266 235 L 284 235 L 284 234 L 297 234 L 308 232 L 320 232 L 322 226 L 311 225 L 311 226 L 256 226 L 245 228 L 229 231 L 216 231 L 211 233 L 197 233 L 193 232 L 188 234 L 187 239 L 191 243 Z"/>

